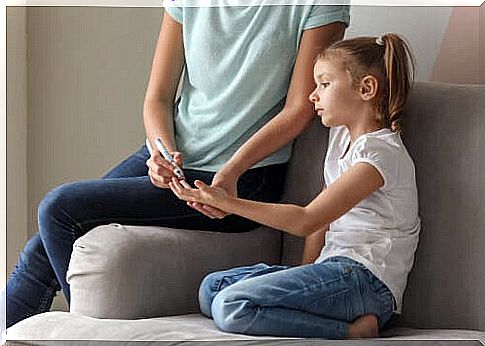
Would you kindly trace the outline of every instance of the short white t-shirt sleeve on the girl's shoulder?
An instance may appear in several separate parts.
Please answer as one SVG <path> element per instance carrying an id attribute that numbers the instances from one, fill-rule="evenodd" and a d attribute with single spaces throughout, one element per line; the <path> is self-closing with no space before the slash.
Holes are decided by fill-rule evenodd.
<path id="1" fill-rule="evenodd" d="M 386 189 L 392 185 L 394 177 L 397 177 L 398 155 L 395 150 L 382 139 L 367 138 L 354 151 L 351 165 L 365 162 L 375 167 L 384 179 L 382 189 Z"/>

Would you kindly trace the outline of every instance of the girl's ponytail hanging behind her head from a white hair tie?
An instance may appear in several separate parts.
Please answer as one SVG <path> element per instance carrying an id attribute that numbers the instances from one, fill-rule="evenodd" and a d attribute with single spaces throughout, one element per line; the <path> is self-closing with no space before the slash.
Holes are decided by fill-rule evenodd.
<path id="1" fill-rule="evenodd" d="M 408 44 L 398 35 L 385 34 L 376 43 L 385 46 L 384 66 L 387 83 L 387 114 L 385 120 L 393 131 L 401 130 L 401 115 L 411 92 L 414 61 Z"/>

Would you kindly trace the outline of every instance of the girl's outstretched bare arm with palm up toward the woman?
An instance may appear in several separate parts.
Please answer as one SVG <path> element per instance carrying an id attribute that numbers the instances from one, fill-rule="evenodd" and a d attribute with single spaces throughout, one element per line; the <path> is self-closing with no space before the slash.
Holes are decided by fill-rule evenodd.
<path id="1" fill-rule="evenodd" d="M 260 224 L 306 237 L 338 219 L 384 184 L 379 171 L 359 162 L 324 189 L 305 207 L 293 204 L 263 203 L 230 196 L 224 189 L 196 181 L 198 189 L 173 179 L 170 187 L 185 201 L 208 204 Z"/>

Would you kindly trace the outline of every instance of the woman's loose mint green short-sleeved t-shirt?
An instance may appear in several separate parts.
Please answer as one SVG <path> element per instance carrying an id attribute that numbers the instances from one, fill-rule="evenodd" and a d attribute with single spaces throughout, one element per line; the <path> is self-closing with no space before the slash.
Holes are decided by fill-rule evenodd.
<path id="1" fill-rule="evenodd" d="M 183 1 L 182 1 L 183 4 Z M 348 6 L 165 7 L 183 25 L 186 70 L 174 110 L 184 168 L 217 171 L 284 106 L 304 30 Z M 288 161 L 291 143 L 254 167 Z"/>

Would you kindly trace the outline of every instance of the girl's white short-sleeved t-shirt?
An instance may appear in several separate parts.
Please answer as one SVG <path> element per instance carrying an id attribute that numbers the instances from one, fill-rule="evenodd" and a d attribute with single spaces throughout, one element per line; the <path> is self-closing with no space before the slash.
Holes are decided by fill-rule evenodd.
<path id="1" fill-rule="evenodd" d="M 414 163 L 399 133 L 380 129 L 350 144 L 347 127 L 330 128 L 326 185 L 358 162 L 375 167 L 384 185 L 330 224 L 315 263 L 333 256 L 362 263 L 390 289 L 400 313 L 421 228 Z"/>

